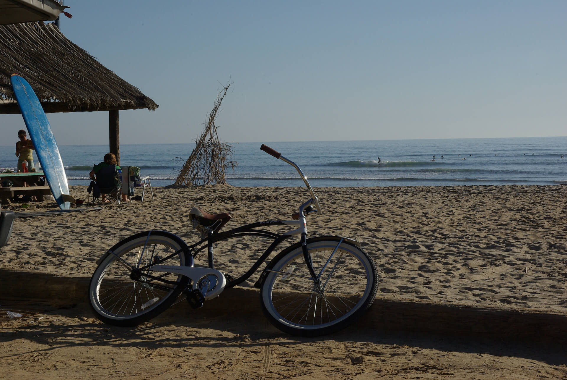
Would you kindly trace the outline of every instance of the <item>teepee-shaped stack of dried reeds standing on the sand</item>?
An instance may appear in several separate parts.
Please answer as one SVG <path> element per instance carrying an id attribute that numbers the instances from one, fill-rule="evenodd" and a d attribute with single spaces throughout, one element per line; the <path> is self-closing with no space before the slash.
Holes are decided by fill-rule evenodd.
<path id="1" fill-rule="evenodd" d="M 218 91 L 217 101 L 215 101 L 213 110 L 209 115 L 209 122 L 205 124 L 205 130 L 201 133 L 201 137 L 195 140 L 197 145 L 181 168 L 175 185 L 226 184 L 225 170 L 227 168 L 234 170 L 234 167 L 238 165 L 236 161 L 230 161 L 232 145 L 219 141 L 217 127 L 214 125 L 222 99 L 229 87 L 230 84 Z"/>

